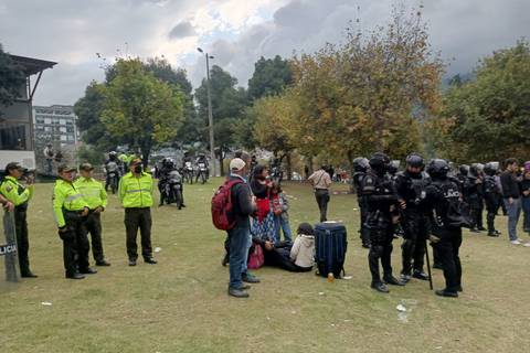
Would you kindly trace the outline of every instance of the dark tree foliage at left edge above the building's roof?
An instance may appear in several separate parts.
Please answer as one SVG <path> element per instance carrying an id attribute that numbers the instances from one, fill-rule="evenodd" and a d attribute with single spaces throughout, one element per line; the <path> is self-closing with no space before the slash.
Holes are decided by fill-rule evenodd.
<path id="1" fill-rule="evenodd" d="M 25 74 L 0 44 L 0 105 L 10 106 L 25 87 Z"/>

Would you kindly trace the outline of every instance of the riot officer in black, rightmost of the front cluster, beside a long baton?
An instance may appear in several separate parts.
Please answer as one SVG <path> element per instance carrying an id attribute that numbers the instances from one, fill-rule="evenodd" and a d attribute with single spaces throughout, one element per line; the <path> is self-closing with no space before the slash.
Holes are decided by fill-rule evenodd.
<path id="1" fill-rule="evenodd" d="M 458 297 L 462 291 L 462 265 L 459 248 L 462 245 L 462 222 L 455 214 L 462 202 L 458 185 L 449 178 L 448 163 L 434 159 L 427 165 L 432 182 L 427 186 L 427 200 L 433 207 L 431 240 L 443 263 L 445 288 L 436 290 L 437 296 Z"/>

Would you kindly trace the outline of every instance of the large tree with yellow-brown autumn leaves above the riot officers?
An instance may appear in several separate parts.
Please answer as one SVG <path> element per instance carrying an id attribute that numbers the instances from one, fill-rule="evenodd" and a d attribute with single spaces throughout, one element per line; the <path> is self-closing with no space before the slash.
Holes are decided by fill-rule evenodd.
<path id="1" fill-rule="evenodd" d="M 305 156 L 325 151 L 329 161 L 350 164 L 375 150 L 403 158 L 420 148 L 420 118 L 441 106 L 443 64 L 421 13 L 398 9 L 386 28 L 347 34 L 344 44 L 294 58 L 300 115 L 293 141 Z"/>

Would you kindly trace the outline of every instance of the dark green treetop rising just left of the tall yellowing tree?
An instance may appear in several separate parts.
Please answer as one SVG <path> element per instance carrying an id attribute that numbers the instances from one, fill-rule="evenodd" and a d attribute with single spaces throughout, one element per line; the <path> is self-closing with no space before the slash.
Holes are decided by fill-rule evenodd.
<path id="1" fill-rule="evenodd" d="M 280 94 L 293 83 L 289 62 L 279 55 L 274 58 L 263 56 L 254 64 L 254 74 L 248 79 L 248 97 L 252 100 Z"/>

